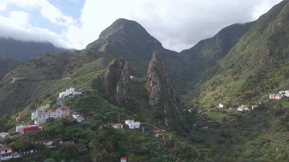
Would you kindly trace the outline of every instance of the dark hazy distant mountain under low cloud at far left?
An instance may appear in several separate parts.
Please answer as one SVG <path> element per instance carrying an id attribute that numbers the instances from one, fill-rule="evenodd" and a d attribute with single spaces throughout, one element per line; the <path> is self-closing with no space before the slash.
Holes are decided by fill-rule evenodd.
<path id="1" fill-rule="evenodd" d="M 0 58 L 18 61 L 27 61 L 48 52 L 71 51 L 71 49 L 55 47 L 48 41 L 18 41 L 10 38 L 0 38 L 0 49 Z"/>

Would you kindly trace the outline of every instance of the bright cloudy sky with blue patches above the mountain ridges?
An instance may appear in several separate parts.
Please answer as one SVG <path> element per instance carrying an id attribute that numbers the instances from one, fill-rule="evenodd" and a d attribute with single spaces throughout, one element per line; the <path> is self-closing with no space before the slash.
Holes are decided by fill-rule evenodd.
<path id="1" fill-rule="evenodd" d="M 0 0 L 0 37 L 83 49 L 119 18 L 139 22 L 182 51 L 233 23 L 257 20 L 282 0 Z"/>

